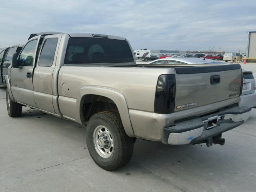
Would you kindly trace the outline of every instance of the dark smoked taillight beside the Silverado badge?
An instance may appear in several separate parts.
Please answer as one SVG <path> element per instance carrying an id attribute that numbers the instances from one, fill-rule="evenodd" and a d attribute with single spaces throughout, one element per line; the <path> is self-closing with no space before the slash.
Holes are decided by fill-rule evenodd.
<path id="1" fill-rule="evenodd" d="M 160 75 L 156 85 L 154 112 L 170 114 L 175 108 L 175 75 Z"/>

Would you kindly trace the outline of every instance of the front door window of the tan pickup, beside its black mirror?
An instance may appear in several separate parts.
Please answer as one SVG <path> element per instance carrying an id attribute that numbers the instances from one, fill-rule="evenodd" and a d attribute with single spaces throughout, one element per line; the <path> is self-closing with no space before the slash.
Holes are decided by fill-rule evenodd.
<path id="1" fill-rule="evenodd" d="M 26 44 L 18 60 L 19 66 L 33 66 L 34 56 L 36 51 L 37 39 L 32 40 Z"/>

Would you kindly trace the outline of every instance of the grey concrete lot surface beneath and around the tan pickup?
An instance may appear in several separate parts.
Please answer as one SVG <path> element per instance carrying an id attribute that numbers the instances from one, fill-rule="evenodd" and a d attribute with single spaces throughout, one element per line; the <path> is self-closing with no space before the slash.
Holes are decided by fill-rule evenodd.
<path id="1" fill-rule="evenodd" d="M 256 64 L 241 64 L 256 74 Z M 138 139 L 130 163 L 107 172 L 91 159 L 85 129 L 23 107 L 10 118 L 0 87 L 1 192 L 252 192 L 256 190 L 256 109 L 223 134 L 224 146 L 170 146 Z"/>

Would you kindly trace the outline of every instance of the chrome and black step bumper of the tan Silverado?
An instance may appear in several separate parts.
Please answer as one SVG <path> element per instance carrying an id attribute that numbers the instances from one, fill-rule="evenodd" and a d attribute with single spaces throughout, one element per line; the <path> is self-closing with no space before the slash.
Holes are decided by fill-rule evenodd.
<path id="1" fill-rule="evenodd" d="M 249 118 L 250 111 L 251 108 L 246 106 L 233 107 L 175 123 L 175 126 L 164 128 L 162 142 L 172 145 L 200 143 L 243 124 Z M 214 122 L 214 126 L 209 127 L 209 122 Z"/>

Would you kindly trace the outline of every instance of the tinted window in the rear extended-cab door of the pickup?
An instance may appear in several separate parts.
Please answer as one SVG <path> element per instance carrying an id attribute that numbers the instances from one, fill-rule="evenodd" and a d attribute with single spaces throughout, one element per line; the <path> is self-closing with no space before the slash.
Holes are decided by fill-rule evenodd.
<path id="1" fill-rule="evenodd" d="M 57 44 L 58 38 L 49 38 L 44 41 L 40 58 L 38 60 L 39 66 L 52 66 Z"/>

